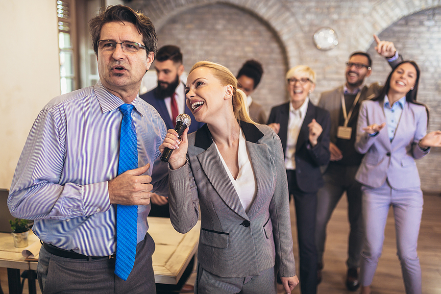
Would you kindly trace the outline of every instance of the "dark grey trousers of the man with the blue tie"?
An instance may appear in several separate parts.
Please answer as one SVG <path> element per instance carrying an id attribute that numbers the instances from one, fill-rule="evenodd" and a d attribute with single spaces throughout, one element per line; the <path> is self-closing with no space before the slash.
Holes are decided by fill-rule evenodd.
<path id="1" fill-rule="evenodd" d="M 147 233 L 136 246 L 133 270 L 127 281 L 115 275 L 115 258 L 71 259 L 50 254 L 42 246 L 37 277 L 43 294 L 156 294 L 151 255 L 155 243 Z"/>

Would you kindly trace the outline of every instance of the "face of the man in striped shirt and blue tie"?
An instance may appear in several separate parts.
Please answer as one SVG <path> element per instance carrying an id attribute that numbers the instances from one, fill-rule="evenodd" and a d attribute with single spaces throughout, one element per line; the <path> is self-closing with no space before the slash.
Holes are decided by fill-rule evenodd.
<path id="1" fill-rule="evenodd" d="M 99 40 L 115 42 L 138 42 L 143 44 L 143 36 L 131 23 L 111 22 L 102 26 Z M 147 57 L 146 51 L 140 49 L 135 53 L 124 52 L 120 44 L 113 51 L 98 49 L 98 74 L 102 85 L 112 94 L 123 98 L 127 94 L 135 99 L 139 92 L 141 80 L 150 68 L 154 53 Z M 124 94 L 123 94 L 124 93 Z M 130 103 L 131 101 L 125 101 Z"/>

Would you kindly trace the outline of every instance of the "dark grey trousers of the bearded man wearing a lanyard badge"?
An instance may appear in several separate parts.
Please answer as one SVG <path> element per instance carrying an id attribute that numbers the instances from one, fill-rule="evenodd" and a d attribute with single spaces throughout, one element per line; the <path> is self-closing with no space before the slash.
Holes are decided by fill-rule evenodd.
<path id="1" fill-rule="evenodd" d="M 363 245 L 361 184 L 355 180 L 358 166 L 342 166 L 331 162 L 323 174 L 324 186 L 317 194 L 316 245 L 319 262 L 323 262 L 326 226 L 343 193 L 347 196 L 347 215 L 350 224 L 348 238 L 348 268 L 360 267 Z"/>

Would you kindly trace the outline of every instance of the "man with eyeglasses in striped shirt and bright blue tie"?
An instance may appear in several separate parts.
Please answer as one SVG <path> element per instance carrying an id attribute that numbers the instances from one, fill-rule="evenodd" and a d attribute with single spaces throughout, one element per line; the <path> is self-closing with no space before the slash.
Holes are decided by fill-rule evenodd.
<path id="1" fill-rule="evenodd" d="M 147 215 L 150 191 L 168 192 L 158 150 L 167 129 L 138 92 L 156 33 L 145 15 L 123 5 L 103 9 L 89 27 L 99 81 L 40 112 L 8 206 L 35 220 L 42 293 L 155 294 Z"/>

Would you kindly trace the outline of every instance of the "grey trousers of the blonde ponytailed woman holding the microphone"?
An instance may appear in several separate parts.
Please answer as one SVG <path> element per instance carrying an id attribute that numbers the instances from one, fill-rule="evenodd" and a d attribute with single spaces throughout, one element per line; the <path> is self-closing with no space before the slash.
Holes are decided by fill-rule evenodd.
<path id="1" fill-rule="evenodd" d="M 223 278 L 197 265 L 195 294 L 276 294 L 275 267 L 257 276 Z"/>

